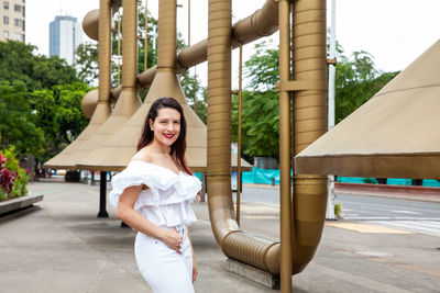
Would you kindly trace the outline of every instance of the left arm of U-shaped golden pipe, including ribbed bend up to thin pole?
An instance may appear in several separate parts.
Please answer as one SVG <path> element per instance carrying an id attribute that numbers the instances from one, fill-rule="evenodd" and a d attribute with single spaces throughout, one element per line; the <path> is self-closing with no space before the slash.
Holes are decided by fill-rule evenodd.
<path id="1" fill-rule="evenodd" d="M 210 0 L 208 22 L 208 201 L 212 230 L 223 252 L 279 273 L 276 243 L 239 229 L 231 196 L 231 0 Z"/>

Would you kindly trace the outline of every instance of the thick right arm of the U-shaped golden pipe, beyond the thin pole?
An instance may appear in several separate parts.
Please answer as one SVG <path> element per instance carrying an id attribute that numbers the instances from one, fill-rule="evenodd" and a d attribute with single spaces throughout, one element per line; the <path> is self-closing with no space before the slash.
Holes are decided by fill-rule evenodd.
<path id="1" fill-rule="evenodd" d="M 293 18 L 294 80 L 326 84 L 326 1 L 299 0 Z M 327 132 L 327 86 L 294 95 L 294 153 Z M 312 259 L 326 219 L 327 177 L 294 176 L 293 272 Z"/>

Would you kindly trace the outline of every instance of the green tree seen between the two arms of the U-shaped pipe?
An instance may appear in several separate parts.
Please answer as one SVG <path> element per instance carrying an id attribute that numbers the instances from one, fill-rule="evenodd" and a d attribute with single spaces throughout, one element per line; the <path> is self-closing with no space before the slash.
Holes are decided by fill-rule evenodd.
<path id="1" fill-rule="evenodd" d="M 246 90 L 242 93 L 242 151 L 255 157 L 278 157 L 279 101 L 275 91 L 278 49 L 271 43 L 255 45 L 244 63 Z M 238 140 L 238 97 L 232 98 L 232 142 Z"/>

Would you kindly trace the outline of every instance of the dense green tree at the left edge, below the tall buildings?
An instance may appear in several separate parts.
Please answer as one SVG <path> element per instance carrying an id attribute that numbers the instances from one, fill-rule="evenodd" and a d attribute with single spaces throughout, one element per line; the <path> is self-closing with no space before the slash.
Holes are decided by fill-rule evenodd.
<path id="1" fill-rule="evenodd" d="M 0 42 L 0 139 L 20 155 L 48 158 L 87 125 L 80 103 L 89 90 L 74 67 L 36 47 Z"/>

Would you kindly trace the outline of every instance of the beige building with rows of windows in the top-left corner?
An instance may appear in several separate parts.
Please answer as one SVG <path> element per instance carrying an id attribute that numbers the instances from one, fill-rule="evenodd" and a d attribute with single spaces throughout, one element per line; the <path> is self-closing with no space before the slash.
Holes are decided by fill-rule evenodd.
<path id="1" fill-rule="evenodd" d="M 25 0 L 0 1 L 0 41 L 24 42 Z"/>

